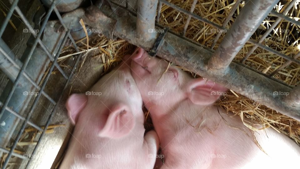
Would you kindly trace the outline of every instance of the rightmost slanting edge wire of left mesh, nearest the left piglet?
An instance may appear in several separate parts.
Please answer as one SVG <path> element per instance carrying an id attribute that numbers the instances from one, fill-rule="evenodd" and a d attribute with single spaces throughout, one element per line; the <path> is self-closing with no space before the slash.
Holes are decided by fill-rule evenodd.
<path id="1" fill-rule="evenodd" d="M 72 39 L 73 39 L 73 38 L 72 38 Z M 72 39 L 71 39 L 71 41 L 72 41 Z M 74 46 L 76 46 L 76 49 L 77 49 L 77 45 L 76 45 L 75 41 L 73 40 L 72 42 L 73 42 Z M 77 50 L 78 50 L 78 49 L 77 49 Z M 79 51 L 79 50 L 78 50 L 78 51 Z M 65 86 L 64 86 L 64 88 L 63 88 L 63 91 L 66 90 L 66 88 L 67 88 L 68 85 L 69 85 L 70 80 L 71 80 L 72 77 L 73 77 L 73 74 L 75 74 L 76 67 L 77 67 L 77 65 L 78 65 L 79 60 L 81 59 L 81 57 L 82 57 L 82 54 L 80 54 L 80 55 L 78 56 L 78 58 L 76 59 L 75 64 L 74 64 L 74 66 L 73 66 L 73 68 L 72 68 L 72 70 L 71 70 L 71 73 L 70 73 L 69 77 L 68 77 L 68 80 L 67 80 L 67 82 L 65 83 Z M 62 91 L 62 93 L 63 93 L 63 91 Z M 61 100 L 62 96 L 63 96 L 63 95 L 60 95 L 60 97 L 59 97 L 58 100 Z M 52 116 L 53 116 L 54 110 L 56 110 L 56 107 L 57 107 L 57 105 L 55 105 L 55 107 L 54 107 L 53 110 L 51 111 L 51 114 L 50 114 L 50 116 L 49 116 L 49 118 L 48 118 L 48 120 L 47 120 L 47 123 L 46 123 L 46 125 L 45 125 L 45 128 L 44 128 L 44 130 L 43 130 L 41 136 L 39 137 L 36 146 L 34 147 L 32 153 L 31 153 L 32 156 L 34 156 L 34 154 L 36 153 L 37 147 L 40 145 L 41 140 L 42 140 L 43 136 L 45 135 L 45 132 L 46 132 L 45 129 L 48 128 L 48 126 L 49 126 L 49 124 L 50 124 L 50 121 L 51 121 L 51 118 L 52 118 Z M 26 165 L 26 167 L 25 167 L 25 169 L 27 169 L 27 168 L 30 166 L 31 162 L 32 162 L 32 160 L 31 160 L 31 158 L 30 158 L 29 161 L 28 161 L 28 163 L 27 163 L 27 165 Z"/>

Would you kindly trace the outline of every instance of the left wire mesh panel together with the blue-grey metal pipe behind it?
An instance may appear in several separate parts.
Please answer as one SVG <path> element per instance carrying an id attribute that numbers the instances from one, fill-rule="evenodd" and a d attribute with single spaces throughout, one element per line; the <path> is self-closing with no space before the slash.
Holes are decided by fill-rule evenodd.
<path id="1" fill-rule="evenodd" d="M 18 59 L 16 59 L 15 57 L 12 57 L 13 54 L 11 52 L 11 50 L 9 50 L 9 48 L 7 48 L 6 44 L 2 41 L 1 42 L 1 47 L 0 47 L 0 51 L 1 51 L 1 59 L 2 62 L 4 63 L 1 67 L 2 71 L 6 74 L 8 74 L 9 77 L 11 77 L 10 79 L 13 81 L 13 85 L 11 87 L 11 89 L 9 90 L 7 97 L 5 98 L 5 101 L 2 103 L 0 103 L 0 105 L 2 106 L 2 109 L 0 111 L 0 119 L 1 119 L 1 123 L 2 123 L 2 129 L 4 130 L 4 126 L 8 126 L 9 128 L 12 128 L 12 131 L 7 131 L 5 136 L 2 137 L 7 137 L 6 140 L 4 140 L 2 138 L 1 140 L 1 147 L 0 150 L 4 153 L 8 153 L 5 156 L 5 159 L 2 159 L 4 162 L 2 164 L 2 168 L 6 168 L 6 166 L 8 165 L 8 162 L 10 160 L 10 158 L 12 156 L 16 156 L 18 158 L 21 158 L 23 160 L 27 160 L 27 166 L 30 166 L 31 163 L 31 159 L 32 157 L 34 157 L 35 153 L 36 153 L 36 148 L 37 146 L 39 146 L 41 138 L 45 135 L 45 131 L 47 130 L 51 118 L 53 116 L 53 112 L 56 108 L 57 105 L 57 101 L 60 99 L 61 96 L 56 97 L 56 98 L 52 98 L 50 95 L 48 95 L 45 92 L 45 86 L 47 85 L 47 82 L 50 78 L 50 75 L 52 74 L 53 70 L 58 70 L 58 72 L 62 75 L 62 77 L 65 79 L 64 82 L 64 88 L 63 90 L 66 88 L 66 86 L 68 85 L 68 83 L 70 82 L 70 78 L 72 78 L 73 76 L 73 72 L 79 62 L 80 56 L 77 58 L 77 60 L 75 61 L 75 63 L 73 64 L 73 68 L 71 71 L 69 71 L 69 75 L 67 75 L 63 69 L 58 65 L 57 63 L 57 59 L 63 49 L 63 44 L 66 43 L 67 39 L 69 38 L 71 40 L 71 42 L 73 43 L 73 45 L 75 46 L 75 49 L 77 49 L 77 45 L 74 41 L 74 39 L 72 38 L 72 36 L 70 35 L 70 30 L 68 30 L 68 28 L 64 25 L 62 17 L 60 16 L 60 13 L 58 12 L 57 8 L 55 7 L 55 2 L 53 2 L 51 4 L 51 6 L 49 7 L 46 15 L 42 18 L 42 22 L 41 27 L 39 29 L 35 29 L 32 28 L 30 22 L 27 20 L 26 16 L 23 14 L 23 12 L 21 11 L 21 9 L 17 6 L 18 4 L 18 0 L 15 0 L 12 2 L 8 13 L 6 14 L 6 18 L 3 20 L 1 28 L 0 28 L 0 36 L 4 36 L 3 33 L 6 29 L 6 27 L 8 26 L 9 23 L 11 23 L 11 17 L 13 15 L 14 12 L 17 13 L 17 15 L 19 16 L 19 19 L 21 20 L 21 22 L 23 24 L 26 25 L 27 28 L 23 29 L 24 33 L 31 33 L 33 36 L 33 42 L 31 44 L 31 48 L 30 50 L 24 55 L 25 55 L 25 59 L 24 61 L 21 63 Z M 60 31 L 63 36 L 62 39 L 60 41 L 55 40 L 54 42 L 59 42 L 57 44 L 58 49 L 55 53 L 53 53 L 53 50 L 51 49 L 51 47 L 47 46 L 46 44 L 43 43 L 41 36 L 44 33 L 46 24 L 48 23 L 49 17 L 51 15 L 52 12 L 55 12 L 60 24 L 62 25 L 63 29 L 58 30 L 58 32 Z M 12 23 L 11 23 L 12 24 Z M 44 33 L 44 38 L 45 38 L 45 33 Z M 33 54 L 35 54 L 34 52 L 36 52 L 37 50 L 37 46 L 39 45 L 40 49 L 42 49 L 44 52 L 44 54 L 47 55 L 48 60 L 50 60 L 50 66 L 48 67 L 47 72 L 44 72 L 42 70 L 37 70 L 38 66 L 34 66 L 34 67 L 27 67 L 28 64 L 30 66 L 32 66 L 31 62 L 33 62 L 32 60 L 36 59 L 35 57 L 32 57 Z M 6 47 L 6 49 L 5 49 Z M 77 49 L 78 50 L 78 49 Z M 42 57 L 42 56 L 39 56 Z M 8 66 L 6 66 L 6 64 Z M 40 60 L 37 60 L 35 64 L 42 64 Z M 46 67 L 45 67 L 46 66 Z M 47 65 L 44 65 L 44 68 L 47 68 Z M 28 73 L 28 71 L 30 73 Z M 36 77 L 32 77 L 30 74 L 32 73 L 32 71 L 37 71 L 40 73 L 40 77 L 43 76 L 43 79 L 41 82 L 36 82 Z M 34 88 L 32 91 L 23 91 L 22 93 L 17 93 L 17 95 L 15 94 L 16 91 L 19 92 L 19 89 L 21 86 L 24 85 L 32 85 Z M 57 93 L 61 93 L 62 91 L 57 91 Z M 20 105 L 13 105 L 13 107 L 10 107 L 10 103 L 16 103 L 16 96 L 20 96 L 20 95 L 34 95 L 33 98 L 33 102 L 30 103 L 30 106 L 26 109 L 26 112 L 17 112 L 15 111 L 17 106 L 20 106 L 21 104 L 25 103 L 26 105 L 22 105 L 23 107 L 27 107 L 27 105 L 29 104 L 29 101 L 26 102 L 21 102 Z M 32 113 L 35 111 L 36 106 L 38 103 L 40 103 L 40 98 L 41 97 L 45 97 L 47 98 L 48 102 L 51 103 L 52 109 L 50 109 L 50 115 L 48 116 L 48 119 L 46 121 L 46 123 L 43 125 L 43 127 L 39 127 L 39 125 L 33 123 L 32 121 L 30 121 L 31 115 Z M 21 96 L 20 96 L 21 97 Z M 7 115 L 8 114 L 8 115 Z M 10 121 L 8 121 L 10 120 Z M 20 121 L 19 123 L 17 121 Z M 9 124 L 9 122 L 14 122 L 12 124 Z M 20 125 L 20 127 L 17 127 L 17 125 Z M 35 128 L 36 130 L 40 131 L 40 137 L 38 138 L 38 141 L 36 143 L 36 146 L 34 148 L 34 150 L 32 152 L 25 152 L 24 154 L 20 154 L 17 153 L 17 151 L 15 151 L 15 148 L 18 145 L 18 142 L 20 141 L 20 138 L 22 137 L 22 134 L 26 128 L 27 125 L 32 126 L 33 128 Z M 17 131 L 14 131 L 17 130 Z M 16 137 L 12 137 L 12 133 L 17 133 Z M 11 146 L 9 146 L 9 148 L 6 147 L 6 144 L 8 144 L 9 139 L 13 140 L 11 143 Z M 29 155 L 30 154 L 30 155 Z"/>

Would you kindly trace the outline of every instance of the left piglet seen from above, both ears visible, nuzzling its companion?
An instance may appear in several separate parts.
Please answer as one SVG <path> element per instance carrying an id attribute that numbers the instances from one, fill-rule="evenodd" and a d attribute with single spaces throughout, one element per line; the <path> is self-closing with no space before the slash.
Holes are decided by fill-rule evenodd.
<path id="1" fill-rule="evenodd" d="M 153 169 L 159 145 L 155 131 L 144 136 L 142 97 L 127 62 L 89 91 L 73 94 L 66 107 L 75 129 L 61 169 Z"/>

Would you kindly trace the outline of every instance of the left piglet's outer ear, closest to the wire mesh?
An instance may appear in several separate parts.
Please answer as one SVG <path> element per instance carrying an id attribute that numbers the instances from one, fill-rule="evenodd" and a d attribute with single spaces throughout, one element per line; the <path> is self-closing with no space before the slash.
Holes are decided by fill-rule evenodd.
<path id="1" fill-rule="evenodd" d="M 68 98 L 66 108 L 73 125 L 76 124 L 79 112 L 83 110 L 87 103 L 88 97 L 84 94 L 73 94 Z"/>

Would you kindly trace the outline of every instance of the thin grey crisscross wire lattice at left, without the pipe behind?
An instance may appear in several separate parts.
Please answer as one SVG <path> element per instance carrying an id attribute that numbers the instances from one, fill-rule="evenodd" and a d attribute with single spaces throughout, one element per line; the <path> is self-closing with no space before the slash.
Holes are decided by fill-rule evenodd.
<path id="1" fill-rule="evenodd" d="M 4 19 L 4 21 L 3 21 L 3 23 L 2 23 L 2 26 L 1 26 L 1 28 L 0 28 L 0 37 L 2 36 L 2 34 L 4 33 L 4 30 L 5 30 L 5 28 L 6 28 L 6 26 L 8 25 L 8 22 L 9 22 L 11 16 L 12 16 L 13 11 L 16 11 L 16 12 L 17 12 L 17 14 L 20 16 L 22 22 L 27 26 L 28 29 L 33 29 L 33 28 L 31 27 L 30 23 L 27 21 L 27 19 L 26 19 L 26 17 L 24 16 L 24 14 L 21 12 L 20 8 L 17 6 L 17 3 L 18 3 L 18 0 L 13 1 L 12 6 L 11 6 L 9 12 L 7 13 L 7 16 L 6 16 L 6 18 Z M 63 27 L 64 27 L 64 29 L 65 29 L 65 36 L 64 36 L 64 38 L 63 38 L 63 42 L 60 44 L 60 47 L 59 47 L 58 52 L 57 52 L 56 54 L 51 54 L 52 52 L 49 51 L 49 49 L 47 48 L 47 46 L 46 46 L 45 44 L 43 44 L 43 43 L 42 43 L 42 40 L 40 39 L 40 37 L 41 37 L 41 35 L 42 35 L 42 33 L 43 33 L 43 30 L 44 30 L 44 28 L 45 28 L 45 26 L 46 26 L 46 23 L 47 23 L 48 20 L 49 20 L 50 14 L 53 12 L 53 10 L 54 10 L 54 12 L 57 14 L 60 23 L 63 25 Z M 10 56 L 5 52 L 5 50 L 2 49 L 2 48 L 0 47 L 0 52 L 5 56 L 6 59 L 8 59 L 8 61 L 10 61 L 13 65 L 15 65 L 15 72 L 17 72 L 17 77 L 14 79 L 14 83 L 13 83 L 12 89 L 10 90 L 10 92 L 9 92 L 9 94 L 8 94 L 8 97 L 6 98 L 6 100 L 4 101 L 4 103 L 0 102 L 0 106 L 2 107 L 2 108 L 1 108 L 1 111 L 0 111 L 0 118 L 2 117 L 4 111 L 5 111 L 5 110 L 8 110 L 12 115 L 15 115 L 17 118 L 23 120 L 22 127 L 21 127 L 21 129 L 18 131 L 17 138 L 16 138 L 15 141 L 13 142 L 13 145 L 12 145 L 11 149 L 10 149 L 10 150 L 7 150 L 5 147 L 0 147 L 0 151 L 5 152 L 5 153 L 8 153 L 8 156 L 7 156 L 6 160 L 4 161 L 4 163 L 3 163 L 3 165 L 2 165 L 2 168 L 3 168 L 3 169 L 6 168 L 6 166 L 7 166 L 7 164 L 8 164 L 8 161 L 10 160 L 11 156 L 16 156 L 16 157 L 18 157 L 18 158 L 21 158 L 21 159 L 24 159 L 24 160 L 28 160 L 28 163 L 27 163 L 26 168 L 29 167 L 29 165 L 31 164 L 31 159 L 32 159 L 32 158 L 27 158 L 27 157 L 25 157 L 25 156 L 23 156 L 23 155 L 21 155 L 21 154 L 18 154 L 18 153 L 13 152 L 13 151 L 15 150 L 16 146 L 17 146 L 17 142 L 18 142 L 19 139 L 21 138 L 21 135 L 22 135 L 22 133 L 23 133 L 23 131 L 24 131 L 24 129 L 25 129 L 25 127 L 26 127 L 27 124 L 29 124 L 29 125 L 31 125 L 32 127 L 36 128 L 38 131 L 42 131 L 42 134 L 41 134 L 41 136 L 39 137 L 39 139 L 38 139 L 38 141 L 37 141 L 37 145 L 35 146 L 35 148 L 34 148 L 34 150 L 33 150 L 33 152 L 32 152 L 32 156 L 34 155 L 34 153 L 35 153 L 36 150 L 37 150 L 37 147 L 38 147 L 39 144 L 40 144 L 40 141 L 41 141 L 42 137 L 43 137 L 44 134 L 45 134 L 45 131 L 47 130 L 47 127 L 49 126 L 49 124 L 50 124 L 50 122 L 51 122 L 51 118 L 52 118 L 52 116 L 53 116 L 54 110 L 55 110 L 56 107 L 57 107 L 57 104 L 56 104 L 56 103 L 57 103 L 57 101 L 60 100 L 60 98 L 62 97 L 62 96 L 60 96 L 60 97 L 58 98 L 58 100 L 53 100 L 53 99 L 52 99 L 52 98 L 44 91 L 44 88 L 45 88 L 45 86 L 46 86 L 46 84 L 47 84 L 47 82 L 48 82 L 48 80 L 49 80 L 49 77 L 50 77 L 50 75 L 51 75 L 51 73 L 52 73 L 54 67 L 56 67 L 56 68 L 59 70 L 59 72 L 62 74 L 62 76 L 63 76 L 65 79 L 67 79 L 67 81 L 66 81 L 66 83 L 65 83 L 65 85 L 64 85 L 64 88 L 63 88 L 63 90 L 65 90 L 65 89 L 67 88 L 69 82 L 70 82 L 70 79 L 73 77 L 74 71 L 75 71 L 75 69 L 76 69 L 76 67 L 77 67 L 77 65 L 78 65 L 78 63 L 79 63 L 79 60 L 80 60 L 81 57 L 82 57 L 82 55 L 79 55 L 79 56 L 78 56 L 78 58 L 76 59 L 74 65 L 73 65 L 73 68 L 72 68 L 72 70 L 71 70 L 70 75 L 67 75 L 67 74 L 63 71 L 63 69 L 62 69 L 62 68 L 58 65 L 58 63 L 57 63 L 57 59 L 58 59 L 58 57 L 59 57 L 59 55 L 60 55 L 60 53 L 61 53 L 61 50 L 63 49 L 63 44 L 65 44 L 67 38 L 70 38 L 70 40 L 71 40 L 72 44 L 74 45 L 76 51 L 79 52 L 79 50 L 78 50 L 78 47 L 77 47 L 77 45 L 76 45 L 76 43 L 75 43 L 73 37 L 72 37 L 71 34 L 70 34 L 70 30 L 64 25 L 63 20 L 62 20 L 62 17 L 61 17 L 61 15 L 59 14 L 57 8 L 55 7 L 55 1 L 53 1 L 53 3 L 51 4 L 51 6 L 50 6 L 50 8 L 49 8 L 49 10 L 48 10 L 48 12 L 47 12 L 47 15 L 46 15 L 46 17 L 44 18 L 44 21 L 43 21 L 43 23 L 42 23 L 42 25 L 41 25 L 41 28 L 40 28 L 40 30 L 39 30 L 39 33 L 37 33 L 37 34 L 35 34 L 34 32 L 31 32 L 31 33 L 32 33 L 32 35 L 35 37 L 35 40 L 34 40 L 34 43 L 33 43 L 33 45 L 32 45 L 32 48 L 31 48 L 31 50 L 30 50 L 30 53 L 28 54 L 27 58 L 25 59 L 25 61 L 24 61 L 23 64 L 22 64 L 22 67 L 18 67 L 18 66 L 17 66 L 18 64 L 15 62 L 15 60 L 11 59 Z M 29 62 L 29 60 L 30 60 L 30 58 L 31 58 L 31 56 L 32 56 L 32 54 L 33 54 L 33 51 L 35 50 L 37 44 L 40 44 L 40 46 L 42 47 L 43 51 L 47 54 L 48 58 L 49 58 L 50 61 L 52 62 L 52 65 L 51 65 L 51 67 L 50 67 L 50 69 L 49 69 L 49 71 L 48 71 L 48 73 L 47 73 L 47 75 L 46 75 L 46 78 L 45 78 L 45 80 L 43 81 L 41 87 L 39 87 L 39 86 L 37 85 L 37 83 L 36 83 L 36 82 L 30 77 L 30 75 L 28 75 L 28 74 L 26 73 L 26 71 L 25 71 L 26 66 L 27 66 L 27 64 L 28 64 L 28 62 Z M 54 105 L 53 109 L 51 110 L 51 114 L 50 114 L 50 116 L 48 117 L 48 120 L 47 120 L 47 122 L 46 122 L 46 124 L 45 124 L 45 127 L 44 127 L 43 129 L 42 129 L 41 127 L 39 127 L 38 125 L 36 125 L 36 124 L 32 123 L 31 121 L 29 121 L 29 118 L 31 117 L 32 112 L 34 111 L 34 109 L 35 109 L 35 107 L 36 107 L 36 105 L 37 105 L 37 102 L 38 102 L 38 100 L 40 99 L 40 96 L 41 96 L 41 95 L 37 95 L 37 97 L 34 99 L 33 105 L 30 107 L 30 110 L 29 110 L 29 112 L 27 113 L 27 116 L 26 116 L 26 117 L 23 117 L 22 115 L 20 115 L 20 113 L 13 111 L 11 108 L 9 108 L 9 107 L 7 106 L 8 103 L 9 103 L 9 101 L 10 101 L 10 99 L 11 99 L 12 93 L 14 92 L 14 90 L 15 90 L 16 87 L 17 87 L 17 85 L 19 84 L 19 79 L 20 79 L 22 76 L 25 77 L 25 78 L 26 78 L 26 79 L 27 79 L 27 80 L 28 80 L 28 81 L 36 88 L 36 90 L 39 90 L 39 93 L 41 93 L 42 95 L 44 95 L 44 96 L 50 101 L 50 103 L 52 103 L 52 104 Z M 17 125 L 17 124 L 14 124 L 14 125 Z"/>

